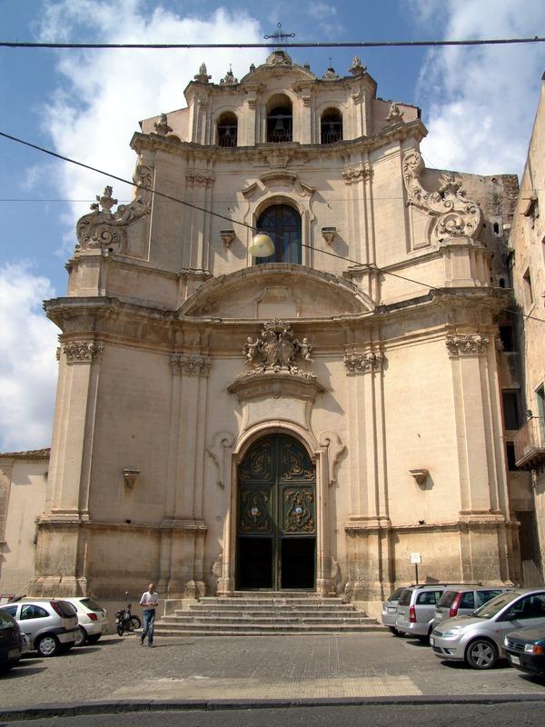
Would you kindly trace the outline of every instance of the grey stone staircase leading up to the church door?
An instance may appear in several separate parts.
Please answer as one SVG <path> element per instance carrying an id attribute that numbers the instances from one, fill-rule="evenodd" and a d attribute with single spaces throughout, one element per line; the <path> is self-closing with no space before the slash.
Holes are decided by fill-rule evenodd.
<path id="1" fill-rule="evenodd" d="M 309 593 L 235 593 L 204 597 L 155 622 L 158 636 L 260 636 L 271 633 L 387 631 L 341 598 Z"/>

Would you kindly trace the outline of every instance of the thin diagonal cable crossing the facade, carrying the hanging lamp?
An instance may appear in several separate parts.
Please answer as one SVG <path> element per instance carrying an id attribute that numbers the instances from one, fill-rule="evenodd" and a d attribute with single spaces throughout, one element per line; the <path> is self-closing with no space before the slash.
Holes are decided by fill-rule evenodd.
<path id="1" fill-rule="evenodd" d="M 71 159 L 69 156 L 63 156 L 62 154 L 56 154 L 56 152 L 52 152 L 50 149 L 45 149 L 44 146 L 39 146 L 38 144 L 32 144 L 31 142 L 25 141 L 25 139 L 20 139 L 17 136 L 13 136 L 12 134 L 5 134 L 5 132 L 0 131 L 0 136 L 4 136 L 5 139 L 9 139 L 10 141 L 16 142 L 17 144 L 24 144 L 25 146 L 29 146 L 32 149 L 35 149 L 38 152 L 43 152 L 44 154 L 49 154 L 50 156 L 54 156 L 56 159 L 61 159 L 63 162 L 68 162 L 70 164 L 76 164 L 77 166 L 82 166 L 84 169 L 88 169 L 91 172 L 96 172 L 97 174 L 103 174 L 104 176 L 109 177 L 110 179 L 115 179 L 117 182 L 123 182 L 124 184 L 130 184 L 133 187 L 136 187 L 137 189 L 141 189 L 144 192 L 147 192 L 149 194 L 154 194 L 159 197 L 164 197 L 165 199 L 170 200 L 171 202 L 176 202 L 179 204 L 183 204 L 186 207 L 191 207 L 194 210 L 198 210 L 199 212 L 203 212 L 204 214 L 210 214 L 213 217 L 219 217 L 222 220 L 227 220 L 230 224 L 238 224 L 241 227 L 245 227 L 248 230 L 252 230 L 252 232 L 260 232 L 258 227 L 254 227 L 252 224 L 247 224 L 245 222 L 242 222 L 241 220 L 235 220 L 233 217 L 227 217 L 225 214 L 220 214 L 219 212 L 213 212 L 212 210 L 207 210 L 205 207 L 200 207 L 198 204 L 192 204 L 191 202 L 186 202 L 186 200 L 181 199 L 180 197 L 174 197 L 172 194 L 165 194 L 164 192 L 159 192 L 159 190 L 154 189 L 154 187 L 146 187 L 144 184 L 138 184 L 135 183 L 131 179 L 126 179 L 123 176 L 119 176 L 118 174 L 112 174 L 111 172 L 105 172 L 104 169 L 98 169 L 95 166 L 91 166 L 90 164 L 84 164 L 83 162 L 78 162 L 76 159 Z M 268 234 L 268 233 L 267 233 Z M 346 257 L 345 255 L 339 255 L 336 253 L 332 253 L 329 250 L 317 250 L 316 248 L 312 247 L 310 244 L 305 244 L 301 242 L 302 247 L 306 247 L 309 250 L 312 250 L 314 253 L 322 253 L 324 255 L 329 255 L 330 257 L 335 257 L 338 260 L 342 260 L 345 263 L 352 263 L 354 265 L 358 265 L 359 267 L 370 267 L 367 264 L 362 263 L 360 260 L 353 260 L 351 257 Z M 440 288 L 438 285 L 432 285 L 430 283 L 422 283 L 421 280 L 415 280 L 414 278 L 410 278 L 408 275 L 401 275 L 400 273 L 392 273 L 390 270 L 386 270 L 384 268 L 379 267 L 376 264 L 372 265 L 372 270 L 376 270 L 378 273 L 381 273 L 383 275 L 391 275 L 391 277 L 398 278 L 399 280 L 404 280 L 407 283 L 412 283 L 415 285 L 421 285 L 422 287 L 427 288 L 428 290 L 438 291 L 440 293 L 444 293 L 444 289 Z M 482 290 L 480 288 L 479 290 Z M 452 293 L 450 290 L 448 291 L 448 294 L 451 296 L 451 298 L 458 298 L 464 301 L 471 301 L 472 303 L 475 302 L 474 297 L 471 295 L 465 295 L 462 293 Z M 487 304 L 484 301 L 479 301 L 479 305 L 482 305 L 483 307 L 491 308 L 494 311 L 503 311 L 504 313 L 508 313 L 510 315 L 518 315 L 517 311 L 513 311 L 511 308 L 505 308 L 501 306 L 497 306 L 494 304 Z M 542 324 L 545 324 L 544 318 L 538 318 L 535 315 L 524 315 L 524 318 L 527 320 L 532 321 L 539 321 Z"/>

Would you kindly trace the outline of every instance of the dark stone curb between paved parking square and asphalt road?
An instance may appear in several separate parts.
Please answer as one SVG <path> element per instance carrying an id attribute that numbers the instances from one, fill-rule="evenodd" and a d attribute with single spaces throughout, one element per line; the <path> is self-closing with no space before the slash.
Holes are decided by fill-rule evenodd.
<path id="1" fill-rule="evenodd" d="M 0 709 L 0 720 L 20 722 L 44 717 L 74 717 L 128 712 L 212 712 L 219 710 L 290 709 L 295 707 L 386 706 L 431 704 L 509 704 L 545 702 L 545 694 L 487 694 L 470 696 L 338 697 L 299 700 L 118 700 L 111 702 L 45 702 L 33 707 Z"/>

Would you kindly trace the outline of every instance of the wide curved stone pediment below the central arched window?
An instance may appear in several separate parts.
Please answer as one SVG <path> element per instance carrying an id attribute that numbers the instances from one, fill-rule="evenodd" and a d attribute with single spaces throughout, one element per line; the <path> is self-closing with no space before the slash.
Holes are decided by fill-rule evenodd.
<path id="1" fill-rule="evenodd" d="M 355 284 L 304 265 L 269 263 L 203 284 L 179 315 L 216 318 L 332 318 L 374 309 Z"/>

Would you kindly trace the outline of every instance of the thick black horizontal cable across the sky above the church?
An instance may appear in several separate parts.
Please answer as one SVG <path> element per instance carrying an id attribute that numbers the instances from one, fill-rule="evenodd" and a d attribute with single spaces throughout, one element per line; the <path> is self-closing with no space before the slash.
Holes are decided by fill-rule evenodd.
<path id="1" fill-rule="evenodd" d="M 339 43 L 282 43 L 282 48 L 415 48 L 441 45 L 512 45 L 545 43 L 545 37 L 532 38 L 474 38 L 467 40 L 381 40 L 343 41 Z M 173 50 L 183 48 L 278 48 L 275 43 L 31 43 L 28 41 L 0 41 L 4 48 L 125 48 L 140 50 Z"/>

